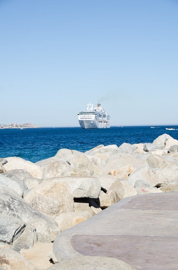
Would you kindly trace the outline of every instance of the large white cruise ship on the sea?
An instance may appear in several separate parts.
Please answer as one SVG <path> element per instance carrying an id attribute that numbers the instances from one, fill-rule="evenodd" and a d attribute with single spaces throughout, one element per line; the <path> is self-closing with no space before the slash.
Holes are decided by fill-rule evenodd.
<path id="1" fill-rule="evenodd" d="M 79 116 L 79 124 L 83 129 L 110 128 L 110 116 L 104 111 L 100 103 L 94 109 L 93 104 L 89 103 L 87 109 L 80 111 L 77 115 Z"/>

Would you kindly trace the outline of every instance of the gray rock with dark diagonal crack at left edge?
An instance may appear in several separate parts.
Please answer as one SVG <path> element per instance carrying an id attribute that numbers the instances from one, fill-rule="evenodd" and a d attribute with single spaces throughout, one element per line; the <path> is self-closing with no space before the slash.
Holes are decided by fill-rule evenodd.
<path id="1" fill-rule="evenodd" d="M 0 215 L 0 243 L 12 244 L 25 229 L 25 223 L 13 215 Z"/>

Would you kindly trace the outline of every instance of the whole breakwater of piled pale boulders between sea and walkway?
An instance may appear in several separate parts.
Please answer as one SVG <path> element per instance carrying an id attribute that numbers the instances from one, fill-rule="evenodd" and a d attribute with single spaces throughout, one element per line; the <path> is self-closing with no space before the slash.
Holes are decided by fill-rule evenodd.
<path id="1" fill-rule="evenodd" d="M 22 249 L 53 242 L 122 198 L 178 191 L 178 141 L 163 134 L 152 143 L 99 145 L 85 153 L 60 149 L 36 163 L 1 158 L 0 187 L 0 268 L 15 269 L 20 260 L 18 270 L 34 269 Z"/>

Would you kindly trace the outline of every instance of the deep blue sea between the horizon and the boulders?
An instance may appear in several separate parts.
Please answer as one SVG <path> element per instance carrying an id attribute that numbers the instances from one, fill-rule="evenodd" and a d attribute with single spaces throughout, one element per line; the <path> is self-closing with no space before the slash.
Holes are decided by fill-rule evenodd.
<path id="1" fill-rule="evenodd" d="M 85 152 L 100 144 L 120 146 L 153 142 L 166 133 L 178 139 L 178 126 L 166 130 L 166 126 L 123 126 L 107 129 L 72 128 L 26 128 L 0 129 L 0 157 L 18 156 L 37 162 L 54 156 L 61 148 Z"/>

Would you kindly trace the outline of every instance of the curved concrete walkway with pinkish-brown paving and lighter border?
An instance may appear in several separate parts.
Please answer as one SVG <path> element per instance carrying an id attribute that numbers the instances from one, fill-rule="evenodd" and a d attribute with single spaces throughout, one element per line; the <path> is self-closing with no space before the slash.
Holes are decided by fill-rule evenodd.
<path id="1" fill-rule="evenodd" d="M 178 193 L 122 199 L 59 234 L 53 253 L 59 261 L 106 256 L 135 269 L 178 269 Z"/>

